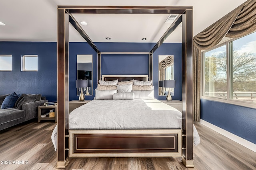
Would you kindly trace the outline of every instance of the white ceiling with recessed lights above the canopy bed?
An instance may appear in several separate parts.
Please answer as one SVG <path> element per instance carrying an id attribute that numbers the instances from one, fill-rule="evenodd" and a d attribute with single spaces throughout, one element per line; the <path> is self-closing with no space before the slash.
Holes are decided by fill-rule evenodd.
<path id="1" fill-rule="evenodd" d="M 57 41 L 57 6 L 193 6 L 193 35 L 246 0 L 1 0 L 0 41 Z M 73 14 L 93 42 L 157 42 L 170 26 L 167 14 Z M 180 43 L 181 26 L 165 40 Z M 110 37 L 110 40 L 106 40 Z M 142 38 L 147 38 L 143 41 Z M 69 41 L 85 41 L 70 25 Z"/>

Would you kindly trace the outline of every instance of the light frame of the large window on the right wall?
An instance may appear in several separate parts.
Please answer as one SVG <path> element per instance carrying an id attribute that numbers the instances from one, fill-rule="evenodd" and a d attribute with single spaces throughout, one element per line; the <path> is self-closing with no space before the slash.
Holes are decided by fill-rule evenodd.
<path id="1" fill-rule="evenodd" d="M 256 31 L 248 33 L 247 35 L 250 35 L 252 33 L 256 33 Z M 242 37 L 245 37 L 247 35 L 244 35 Z M 208 50 L 204 50 L 201 51 L 201 90 L 200 90 L 200 98 L 201 99 L 206 99 L 206 100 L 212 100 L 212 101 L 216 101 L 216 102 L 223 102 L 223 103 L 227 103 L 227 104 L 233 104 L 233 105 L 238 105 L 238 106 L 244 106 L 244 107 L 250 107 L 250 108 L 256 108 L 256 103 L 255 102 L 246 102 L 246 101 L 242 101 L 242 100 L 236 100 L 236 99 L 232 99 L 230 98 L 230 93 L 231 93 L 231 77 L 232 77 L 232 71 L 230 71 L 230 68 L 232 68 L 231 64 L 232 64 L 232 56 L 230 55 L 230 42 L 235 41 L 237 39 L 240 39 L 242 37 L 238 37 L 238 38 L 230 38 L 218 45 L 216 45 L 215 47 L 212 47 L 211 49 Z M 208 51 L 212 51 L 218 47 L 221 47 L 223 45 L 226 45 L 226 65 L 227 65 L 227 98 L 220 98 L 217 96 L 204 96 L 204 92 L 205 92 L 205 78 L 204 78 L 204 74 L 205 74 L 205 60 L 204 60 L 204 53 L 208 52 Z"/>

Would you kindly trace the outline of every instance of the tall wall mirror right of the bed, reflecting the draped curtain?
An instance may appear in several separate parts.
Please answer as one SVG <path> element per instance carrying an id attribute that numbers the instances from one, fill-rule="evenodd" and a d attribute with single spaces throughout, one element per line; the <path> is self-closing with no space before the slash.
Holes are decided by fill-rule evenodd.
<path id="1" fill-rule="evenodd" d="M 159 81 L 174 80 L 174 56 L 158 55 L 158 95 L 166 96 L 169 88 L 163 87 Z M 170 88 L 170 93 L 174 96 L 174 88 Z"/>

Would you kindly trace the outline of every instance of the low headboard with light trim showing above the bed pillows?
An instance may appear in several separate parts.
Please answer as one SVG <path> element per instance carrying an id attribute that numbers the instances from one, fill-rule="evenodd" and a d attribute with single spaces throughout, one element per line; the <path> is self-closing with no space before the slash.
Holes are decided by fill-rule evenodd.
<path id="1" fill-rule="evenodd" d="M 129 80 L 148 81 L 148 75 L 102 75 L 102 80 L 111 81 L 118 79 L 118 82 Z"/>

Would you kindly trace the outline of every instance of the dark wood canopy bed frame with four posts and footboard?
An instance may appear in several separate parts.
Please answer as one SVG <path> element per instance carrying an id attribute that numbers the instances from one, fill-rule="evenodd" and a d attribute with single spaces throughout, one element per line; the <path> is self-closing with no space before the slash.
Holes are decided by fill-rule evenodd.
<path id="1" fill-rule="evenodd" d="M 58 162 L 57 168 L 65 168 L 68 164 L 68 157 L 73 155 L 74 148 L 70 148 L 69 141 L 73 141 L 74 131 L 68 130 L 68 23 L 71 23 L 73 27 L 82 35 L 82 37 L 87 41 L 87 43 L 96 51 L 98 54 L 98 80 L 101 80 L 101 54 L 109 54 L 108 52 L 100 52 L 88 35 L 84 32 L 82 27 L 74 19 L 72 14 L 179 14 L 178 18 L 172 23 L 160 40 L 156 43 L 150 52 L 143 52 L 149 55 L 149 75 L 148 79 L 152 80 L 152 68 L 153 68 L 153 53 L 158 49 L 158 47 L 164 42 L 164 40 L 174 31 L 174 29 L 182 22 L 182 129 L 150 129 L 150 130 L 94 130 L 90 132 L 94 137 L 106 137 L 110 135 L 120 135 L 122 134 L 121 140 L 127 135 L 132 134 L 130 142 L 136 141 L 138 139 L 138 134 L 143 133 L 151 138 L 158 137 L 157 142 L 152 145 L 162 145 L 162 143 L 173 143 L 173 146 L 177 149 L 173 153 L 170 151 L 173 147 L 168 145 L 164 146 L 162 149 L 167 149 L 164 154 L 160 154 L 161 151 L 157 150 L 159 147 L 153 147 L 150 151 L 145 153 L 142 151 L 138 153 L 139 148 L 127 151 L 125 146 L 120 146 L 120 148 L 114 148 L 116 150 L 122 150 L 119 154 L 106 154 L 97 152 L 93 150 L 89 155 L 84 156 L 182 156 L 182 162 L 186 167 L 194 167 L 193 160 L 193 115 L 192 115 L 192 100 L 193 100 L 193 84 L 192 84 L 192 7 L 172 7 L 172 6 L 58 6 Z M 127 54 L 126 52 L 124 52 Z M 112 54 L 115 54 L 113 52 Z M 119 53 L 120 54 L 120 53 Z M 129 53 L 130 54 L 130 53 Z M 107 78 L 108 76 L 104 77 Z M 113 78 L 113 77 L 112 77 Z M 105 80 L 105 79 L 104 79 Z M 83 130 L 82 137 L 75 137 L 76 139 L 88 139 L 88 135 Z M 90 136 L 90 135 L 89 135 Z M 116 137 L 115 136 L 115 137 Z M 166 137 L 167 136 L 167 137 Z M 174 137 L 175 136 L 175 137 Z M 177 137 L 176 137 L 177 136 Z M 120 137 L 120 136 L 119 136 Z M 141 139 L 142 137 L 140 137 Z M 172 139 L 177 139 L 176 144 Z M 94 139 L 93 139 L 94 140 Z M 110 139 L 111 140 L 111 139 Z M 166 140 L 166 141 L 165 141 Z M 86 140 L 82 140 L 86 142 Z M 172 141 L 172 142 L 171 142 Z M 82 143 L 83 143 L 82 142 Z M 112 141 L 111 141 L 112 142 Z M 115 141 L 118 145 L 118 141 Z M 158 143 L 159 142 L 159 143 Z M 74 143 L 75 144 L 75 143 Z M 80 145 L 80 144 L 78 144 Z M 146 145 L 145 141 L 142 140 L 142 146 Z M 72 145 L 71 145 L 72 146 Z M 73 146 L 74 147 L 74 146 Z M 79 146 L 83 147 L 83 146 Z M 94 147 L 94 146 L 92 146 Z M 103 146 L 103 149 L 106 146 Z M 152 147 L 152 146 L 151 146 Z M 150 146 L 149 146 L 150 148 Z M 77 149 L 77 146 L 76 146 Z M 101 148 L 102 149 L 102 148 Z M 168 150 L 169 149 L 169 150 Z M 79 150 L 79 149 L 78 149 Z M 83 150 L 83 149 L 82 149 Z M 85 149 L 86 150 L 86 149 Z M 90 150 L 90 149 L 89 149 Z M 128 149 L 129 150 L 129 149 Z M 170 152 L 169 152 L 170 151 Z M 72 152 L 72 153 L 70 153 Z"/>

